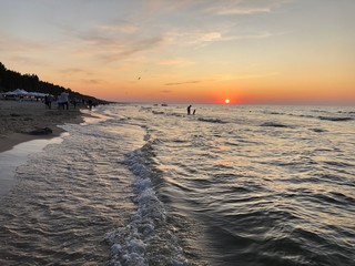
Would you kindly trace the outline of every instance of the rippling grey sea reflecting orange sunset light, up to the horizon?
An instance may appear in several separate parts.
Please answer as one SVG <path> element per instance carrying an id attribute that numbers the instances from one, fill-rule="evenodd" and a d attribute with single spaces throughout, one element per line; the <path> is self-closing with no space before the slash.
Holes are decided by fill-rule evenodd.
<path id="1" fill-rule="evenodd" d="M 354 106 L 186 108 L 99 105 L 30 150 L 0 265 L 355 264 Z"/>

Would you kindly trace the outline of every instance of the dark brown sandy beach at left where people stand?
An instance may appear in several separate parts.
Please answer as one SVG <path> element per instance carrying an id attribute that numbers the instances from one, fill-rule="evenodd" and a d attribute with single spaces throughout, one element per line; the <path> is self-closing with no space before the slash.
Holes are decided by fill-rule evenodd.
<path id="1" fill-rule="evenodd" d="M 58 136 L 63 130 L 57 125 L 82 121 L 78 106 L 49 110 L 42 102 L 0 101 L 0 152 L 21 142 Z"/>

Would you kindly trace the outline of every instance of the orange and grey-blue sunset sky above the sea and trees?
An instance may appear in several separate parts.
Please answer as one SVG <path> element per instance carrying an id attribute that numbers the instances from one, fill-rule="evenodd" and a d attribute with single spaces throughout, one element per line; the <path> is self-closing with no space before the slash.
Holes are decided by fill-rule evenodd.
<path id="1" fill-rule="evenodd" d="M 0 62 L 103 100 L 355 104 L 355 0 L 0 0 Z"/>

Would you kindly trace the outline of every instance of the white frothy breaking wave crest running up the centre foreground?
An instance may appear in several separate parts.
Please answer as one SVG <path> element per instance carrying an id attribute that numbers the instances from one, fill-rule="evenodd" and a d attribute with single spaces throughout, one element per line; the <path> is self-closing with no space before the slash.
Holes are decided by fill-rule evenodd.
<path id="1" fill-rule="evenodd" d="M 148 143 L 124 160 L 135 175 L 132 187 L 138 209 L 129 225 L 106 234 L 105 239 L 112 244 L 110 265 L 155 265 L 156 262 L 187 265 L 176 236 L 169 228 L 164 205 L 154 190 L 153 154 L 152 145 Z"/>

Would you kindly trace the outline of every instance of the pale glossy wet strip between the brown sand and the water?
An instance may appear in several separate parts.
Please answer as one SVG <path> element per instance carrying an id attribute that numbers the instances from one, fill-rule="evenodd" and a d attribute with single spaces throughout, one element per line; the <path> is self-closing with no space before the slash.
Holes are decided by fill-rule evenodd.
<path id="1" fill-rule="evenodd" d="M 24 164 L 28 156 L 41 152 L 49 144 L 59 144 L 68 132 L 53 139 L 40 139 L 14 145 L 12 150 L 0 153 L 0 197 L 8 194 L 16 183 L 16 168 Z"/>

